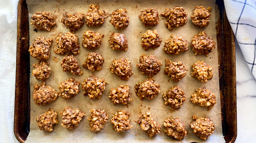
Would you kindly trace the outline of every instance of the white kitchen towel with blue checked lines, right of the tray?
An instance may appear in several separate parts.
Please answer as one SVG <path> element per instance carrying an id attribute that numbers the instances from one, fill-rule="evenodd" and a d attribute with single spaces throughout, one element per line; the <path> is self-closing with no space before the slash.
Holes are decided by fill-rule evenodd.
<path id="1" fill-rule="evenodd" d="M 224 0 L 228 21 L 256 79 L 256 0 Z"/>

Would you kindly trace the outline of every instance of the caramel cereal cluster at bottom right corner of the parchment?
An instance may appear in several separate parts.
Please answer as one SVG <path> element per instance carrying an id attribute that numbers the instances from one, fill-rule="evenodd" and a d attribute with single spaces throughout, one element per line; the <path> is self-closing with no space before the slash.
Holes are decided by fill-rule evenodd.
<path id="1" fill-rule="evenodd" d="M 195 133 L 195 135 L 199 136 L 202 139 L 206 139 L 213 134 L 213 131 L 215 130 L 215 125 L 211 118 L 197 118 L 196 115 L 193 115 L 193 119 L 195 121 L 190 123 L 189 126 L 193 129 L 193 133 Z"/>

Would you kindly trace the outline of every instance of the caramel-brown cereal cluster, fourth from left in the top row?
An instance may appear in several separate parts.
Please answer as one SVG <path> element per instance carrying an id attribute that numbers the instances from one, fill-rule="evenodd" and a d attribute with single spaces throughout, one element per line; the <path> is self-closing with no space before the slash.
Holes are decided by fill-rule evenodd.
<path id="1" fill-rule="evenodd" d="M 110 23 L 117 29 L 123 29 L 129 25 L 129 17 L 126 14 L 127 10 L 124 8 L 116 9 L 112 12 Z"/>

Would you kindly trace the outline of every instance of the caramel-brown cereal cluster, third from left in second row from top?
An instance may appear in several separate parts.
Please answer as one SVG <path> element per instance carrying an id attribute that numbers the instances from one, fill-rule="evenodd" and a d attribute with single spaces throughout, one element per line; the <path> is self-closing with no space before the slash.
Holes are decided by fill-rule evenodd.
<path id="1" fill-rule="evenodd" d="M 100 47 L 102 43 L 103 34 L 99 34 L 98 32 L 87 30 L 83 34 L 82 46 L 86 49 L 97 49 Z"/>

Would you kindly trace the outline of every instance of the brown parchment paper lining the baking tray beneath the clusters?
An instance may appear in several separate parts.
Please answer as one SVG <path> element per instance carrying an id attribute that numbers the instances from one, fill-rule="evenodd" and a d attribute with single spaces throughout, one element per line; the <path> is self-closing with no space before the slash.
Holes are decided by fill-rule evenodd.
<path id="1" fill-rule="evenodd" d="M 191 47 L 189 46 L 189 50 L 183 52 L 179 55 L 168 55 L 165 54 L 163 51 L 164 41 L 170 38 L 171 34 L 180 35 L 184 37 L 188 42 L 189 45 L 191 43 L 191 39 L 195 34 L 198 34 L 199 31 L 205 31 L 209 36 L 211 36 L 214 40 L 216 40 L 216 29 L 215 29 L 215 0 L 146 0 L 146 1 L 128 1 L 128 0 L 117 0 L 117 1 L 105 1 L 105 0 L 98 0 L 98 1 L 83 1 L 83 0 L 76 0 L 76 1 L 63 1 L 63 0 L 27 0 L 28 8 L 29 8 L 29 21 L 31 20 L 31 16 L 36 11 L 48 11 L 52 12 L 56 19 L 56 26 L 53 27 L 52 31 L 33 31 L 34 28 L 30 25 L 30 44 L 32 41 L 39 36 L 43 36 L 45 38 L 52 37 L 53 39 L 59 33 L 68 32 L 69 29 L 63 27 L 63 24 L 60 23 L 62 18 L 62 13 L 64 11 L 70 12 L 83 12 L 87 13 L 89 5 L 91 3 L 97 4 L 99 3 L 100 9 L 105 10 L 107 13 L 112 13 L 113 10 L 118 8 L 126 8 L 127 14 L 130 17 L 130 24 L 128 27 L 122 30 L 117 30 L 110 24 L 109 20 L 110 17 L 105 21 L 105 23 L 98 27 L 88 27 L 84 24 L 80 29 L 75 31 L 75 34 L 79 38 L 80 42 L 80 54 L 75 56 L 80 64 L 80 68 L 83 71 L 82 75 L 72 75 L 71 72 L 62 72 L 62 67 L 60 66 L 60 62 L 64 56 L 60 56 L 54 54 L 53 48 L 56 47 L 56 42 L 53 40 L 53 45 L 51 47 L 51 56 L 47 60 L 50 62 L 50 67 L 52 68 L 51 76 L 46 80 L 46 86 L 51 86 L 55 90 L 58 90 L 58 85 L 61 81 L 64 81 L 69 78 L 74 78 L 81 83 L 84 81 L 85 78 L 91 75 L 92 71 L 85 69 L 81 65 L 86 59 L 86 56 L 89 52 L 97 52 L 101 54 L 105 61 L 103 63 L 103 69 L 100 71 L 94 71 L 94 74 L 99 78 L 104 78 L 108 83 L 106 84 L 106 90 L 103 92 L 101 99 L 99 100 L 92 100 L 89 99 L 88 96 L 83 96 L 83 89 L 76 95 L 74 98 L 70 100 L 64 100 L 61 97 L 58 97 L 53 103 L 46 105 L 46 106 L 37 106 L 34 104 L 32 98 L 33 86 L 35 83 L 40 84 L 42 81 L 38 81 L 35 79 L 34 76 L 31 74 L 30 79 L 30 86 L 31 86 L 31 122 L 30 122 L 30 133 L 26 140 L 26 143 L 29 142 L 209 142 L 209 143 L 221 143 L 225 142 L 223 135 L 222 135 L 222 124 L 221 124 L 221 108 L 220 108 L 220 92 L 219 92 L 219 76 L 218 76 L 218 53 L 217 48 L 208 54 L 209 56 L 206 57 L 204 55 L 197 55 L 194 56 L 194 52 L 192 51 Z M 165 11 L 165 8 L 174 8 L 176 5 L 182 6 L 188 13 L 188 22 L 184 26 L 175 27 L 173 31 L 170 31 L 165 27 L 164 22 L 166 21 L 165 17 L 160 15 L 161 12 Z M 190 19 L 190 15 L 194 10 L 195 6 L 204 6 L 212 7 L 212 17 L 210 18 L 210 24 L 206 28 L 199 28 L 192 24 Z M 141 21 L 138 18 L 138 15 L 141 14 L 145 8 L 155 8 L 159 12 L 160 23 L 156 26 L 146 27 L 141 24 Z M 144 51 L 143 48 L 140 46 L 141 38 L 140 36 L 145 33 L 148 29 L 157 29 L 160 38 L 162 38 L 162 42 L 160 47 L 156 50 L 149 49 L 148 51 Z M 103 42 L 99 49 L 96 50 L 87 50 L 81 46 L 82 43 L 82 35 L 86 30 L 93 30 L 95 32 L 99 32 L 100 34 L 104 34 Z M 129 49 L 127 52 L 124 51 L 115 51 L 112 50 L 109 46 L 109 36 L 112 32 L 119 32 L 126 36 L 128 40 Z M 218 42 L 218 41 L 216 41 Z M 216 44 L 217 46 L 217 44 Z M 145 80 L 148 76 L 146 74 L 142 74 L 141 71 L 136 67 L 137 62 L 139 62 L 139 57 L 142 54 L 153 54 L 158 59 L 160 59 L 163 63 L 160 72 L 153 76 L 155 82 L 160 84 L 161 93 L 158 94 L 152 100 L 143 100 L 141 101 L 134 92 L 134 86 L 136 83 Z M 67 55 L 68 53 L 66 53 Z M 112 61 L 116 58 L 129 58 L 132 64 L 133 74 L 129 78 L 128 81 L 121 80 L 115 73 L 111 73 L 109 66 Z M 164 74 L 165 68 L 165 59 L 170 59 L 172 61 L 181 61 L 184 63 L 187 71 L 187 75 L 179 82 L 168 82 L 168 76 Z M 31 71 L 34 69 L 32 65 L 37 62 L 34 58 L 31 57 L 30 59 Z M 192 77 L 190 72 L 192 71 L 191 65 L 198 60 L 203 60 L 207 64 L 213 67 L 213 79 L 209 80 L 207 83 L 202 83 L 201 81 L 197 80 L 196 78 Z M 127 105 L 114 105 L 110 102 L 108 98 L 109 90 L 112 88 L 116 88 L 119 85 L 129 85 L 131 89 L 131 98 L 133 101 L 128 103 Z M 172 86 L 179 85 L 186 94 L 186 100 L 183 103 L 183 106 L 180 110 L 174 111 L 170 106 L 164 105 L 162 94 L 166 92 Z M 81 88 L 81 84 L 79 86 Z M 207 111 L 207 107 L 201 107 L 196 104 L 193 104 L 189 99 L 191 95 L 195 92 L 197 88 L 206 87 L 207 89 L 211 90 L 217 98 L 216 105 L 210 110 Z M 60 111 L 63 110 L 66 106 L 72 106 L 73 108 L 79 108 L 83 112 L 85 112 L 86 117 L 83 117 L 81 122 L 79 123 L 78 127 L 74 130 L 69 130 L 61 126 L 61 116 L 59 115 Z M 58 124 L 54 124 L 53 131 L 47 132 L 44 130 L 39 130 L 36 122 L 36 116 L 38 114 L 44 113 L 48 108 L 52 108 L 54 111 L 58 113 L 58 120 L 60 121 Z M 100 132 L 92 132 L 89 129 L 89 121 L 86 119 L 90 116 L 90 111 L 92 109 L 105 109 L 105 111 L 109 115 L 108 123 L 105 124 L 104 129 Z M 110 120 L 112 115 L 117 112 L 119 109 L 127 110 L 131 113 L 130 119 L 133 128 L 130 130 L 118 133 L 112 129 L 112 125 Z M 142 114 L 145 114 L 147 111 L 150 111 L 153 118 L 158 121 L 161 126 L 162 130 L 159 134 L 155 135 L 152 138 L 149 138 L 146 135 L 145 131 L 142 131 L 139 124 L 134 121 L 137 121 Z M 206 140 L 200 139 L 197 137 L 192 129 L 189 127 L 189 123 L 193 121 L 192 116 L 196 115 L 197 117 L 204 117 L 208 116 L 213 119 L 215 124 L 215 131 L 213 135 L 211 135 Z M 188 131 L 187 136 L 178 141 L 170 136 L 167 136 L 163 130 L 163 122 L 168 117 L 179 117 L 185 124 L 186 130 Z"/>

